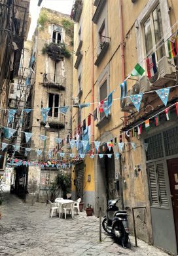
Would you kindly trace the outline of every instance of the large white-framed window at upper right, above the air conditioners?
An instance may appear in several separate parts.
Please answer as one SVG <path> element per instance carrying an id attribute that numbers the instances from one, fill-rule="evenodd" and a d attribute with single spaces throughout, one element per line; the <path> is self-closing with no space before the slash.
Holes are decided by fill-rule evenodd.
<path id="1" fill-rule="evenodd" d="M 147 18 L 147 20 L 143 24 L 143 27 L 145 35 L 146 54 L 152 53 L 152 47 L 154 47 L 154 45 L 156 45 L 159 42 L 156 47 L 158 48 L 156 51 L 156 56 L 157 60 L 160 60 L 165 55 L 165 48 L 164 45 L 162 45 L 162 43 L 164 43 L 164 39 L 162 39 L 163 30 L 160 5 L 158 5 L 156 9 L 154 9 L 154 11 L 151 12 L 149 18 Z"/>

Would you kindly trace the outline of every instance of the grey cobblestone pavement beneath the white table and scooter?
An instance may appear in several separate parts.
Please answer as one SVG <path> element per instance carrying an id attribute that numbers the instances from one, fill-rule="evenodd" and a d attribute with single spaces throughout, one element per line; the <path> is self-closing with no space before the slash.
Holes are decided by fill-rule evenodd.
<path id="1" fill-rule="evenodd" d="M 1 255 L 152 255 L 167 253 L 130 236 L 132 246 L 122 248 L 102 231 L 99 242 L 99 219 L 86 217 L 86 213 L 59 219 L 49 217 L 49 206 L 42 203 L 29 205 L 8 193 L 1 205 L 0 256 Z"/>

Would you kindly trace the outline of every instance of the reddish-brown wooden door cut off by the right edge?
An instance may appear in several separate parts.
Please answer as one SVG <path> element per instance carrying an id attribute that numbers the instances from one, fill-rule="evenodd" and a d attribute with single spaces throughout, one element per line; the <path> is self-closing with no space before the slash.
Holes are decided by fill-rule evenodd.
<path id="1" fill-rule="evenodd" d="M 168 160 L 168 173 L 171 190 L 171 200 L 173 205 L 175 232 L 178 244 L 178 158 Z"/>

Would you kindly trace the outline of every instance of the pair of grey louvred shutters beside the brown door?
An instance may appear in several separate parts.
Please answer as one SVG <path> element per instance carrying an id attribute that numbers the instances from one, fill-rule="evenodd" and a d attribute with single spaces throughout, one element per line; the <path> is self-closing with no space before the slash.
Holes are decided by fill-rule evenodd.
<path id="1" fill-rule="evenodd" d="M 157 161 L 147 164 L 151 205 L 168 207 L 168 193 L 164 175 L 164 162 Z"/>

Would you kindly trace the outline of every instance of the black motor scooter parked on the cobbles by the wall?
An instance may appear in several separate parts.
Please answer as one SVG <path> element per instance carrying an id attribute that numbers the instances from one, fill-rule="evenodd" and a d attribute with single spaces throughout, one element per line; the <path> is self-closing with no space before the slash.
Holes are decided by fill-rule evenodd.
<path id="1" fill-rule="evenodd" d="M 105 232 L 120 240 L 124 248 L 128 247 L 129 227 L 126 211 L 119 210 L 116 206 L 118 200 L 109 200 L 106 215 L 103 217 L 102 226 Z"/>

